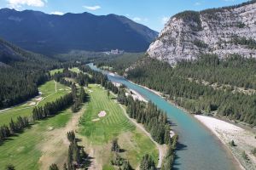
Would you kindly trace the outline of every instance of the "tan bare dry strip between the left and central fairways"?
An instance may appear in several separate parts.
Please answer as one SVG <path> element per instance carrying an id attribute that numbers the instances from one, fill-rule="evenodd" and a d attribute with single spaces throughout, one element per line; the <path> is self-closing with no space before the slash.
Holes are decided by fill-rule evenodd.
<path id="1" fill-rule="evenodd" d="M 48 170 L 52 163 L 56 163 L 62 167 L 67 161 L 67 150 L 69 141 L 67 139 L 67 132 L 76 131 L 79 125 L 79 118 L 84 113 L 84 108 L 78 113 L 74 113 L 71 120 L 67 122 L 66 127 L 58 128 L 46 132 L 45 142 L 38 144 L 43 155 L 39 159 L 40 169 Z"/>

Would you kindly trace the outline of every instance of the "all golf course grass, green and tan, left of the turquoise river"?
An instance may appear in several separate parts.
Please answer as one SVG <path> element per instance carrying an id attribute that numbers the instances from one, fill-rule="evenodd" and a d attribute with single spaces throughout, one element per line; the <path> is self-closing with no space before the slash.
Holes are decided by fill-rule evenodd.
<path id="1" fill-rule="evenodd" d="M 78 67 L 69 71 L 80 72 Z M 50 74 L 54 76 L 61 72 L 63 70 L 56 69 L 50 71 Z M 74 82 L 74 79 L 69 80 Z M 79 87 L 79 84 L 77 86 Z M 40 95 L 35 99 L 3 110 L 0 116 L 4 122 L 2 121 L 1 125 L 9 124 L 11 119 L 15 121 L 16 116 L 31 116 L 34 107 L 44 106 L 47 102 L 55 101 L 71 92 L 71 88 L 55 81 L 46 82 L 38 89 Z M 155 145 L 157 143 L 143 127 L 137 127 L 135 122 L 127 118 L 125 106 L 118 104 L 116 94 L 111 93 L 108 96 L 107 90 L 100 84 L 90 84 L 85 88 L 85 93 L 89 94 L 90 100 L 77 113 L 67 108 L 56 116 L 32 124 L 24 132 L 4 141 L 0 145 L 1 153 L 4 152 L 1 155 L 0 167 L 5 167 L 10 162 L 17 169 L 49 169 L 52 163 L 62 167 L 67 160 L 66 134 L 70 131 L 78 132 L 79 144 L 85 146 L 84 150 L 89 153 L 89 169 L 114 169 L 111 164 L 113 139 L 119 139 L 119 145 L 124 150 L 120 152 L 120 156 L 129 160 L 132 167 L 137 169 L 145 154 L 150 154 L 154 161 L 158 162 L 159 150 Z M 33 105 L 27 106 L 31 103 Z M 106 111 L 106 116 L 99 118 L 100 111 Z M 157 146 L 159 147 L 159 144 Z M 31 156 L 33 159 L 30 159 Z M 161 160 L 163 156 L 162 153 Z M 12 159 L 15 161 L 10 161 Z"/>

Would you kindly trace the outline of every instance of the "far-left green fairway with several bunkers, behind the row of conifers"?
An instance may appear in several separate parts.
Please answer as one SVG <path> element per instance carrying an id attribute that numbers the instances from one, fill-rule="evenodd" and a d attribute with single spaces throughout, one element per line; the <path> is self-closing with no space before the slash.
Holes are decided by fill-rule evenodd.
<path id="1" fill-rule="evenodd" d="M 3 124 L 8 125 L 11 119 L 15 120 L 18 116 L 31 116 L 32 110 L 35 107 L 35 105 L 29 105 L 32 102 L 38 103 L 38 106 L 43 106 L 45 103 L 55 101 L 55 99 L 69 93 L 69 90 L 66 89 L 67 87 L 58 82 L 56 88 L 57 92 L 55 92 L 54 81 L 46 82 L 44 85 L 38 88 L 42 93 L 40 97 L 43 97 L 43 100 L 39 103 L 36 100 L 38 97 L 36 97 L 35 99 L 31 99 L 22 105 L 17 105 L 9 108 L 9 110 L 0 112 L 0 126 Z"/>

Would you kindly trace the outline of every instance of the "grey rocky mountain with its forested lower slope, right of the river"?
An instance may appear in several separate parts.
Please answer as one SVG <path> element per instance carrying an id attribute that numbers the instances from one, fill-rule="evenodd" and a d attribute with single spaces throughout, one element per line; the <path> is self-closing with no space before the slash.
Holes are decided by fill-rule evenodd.
<path id="1" fill-rule="evenodd" d="M 191 113 L 256 126 L 256 1 L 174 15 L 127 77 Z"/>

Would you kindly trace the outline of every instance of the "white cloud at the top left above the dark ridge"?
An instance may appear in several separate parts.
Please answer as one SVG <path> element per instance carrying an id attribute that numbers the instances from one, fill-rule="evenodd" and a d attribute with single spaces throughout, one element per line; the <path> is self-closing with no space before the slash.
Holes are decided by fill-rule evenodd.
<path id="1" fill-rule="evenodd" d="M 44 3 L 46 3 L 43 0 L 7 0 L 7 2 L 10 8 L 21 8 L 22 5 L 44 7 Z"/>

